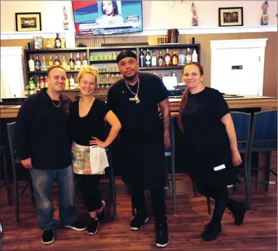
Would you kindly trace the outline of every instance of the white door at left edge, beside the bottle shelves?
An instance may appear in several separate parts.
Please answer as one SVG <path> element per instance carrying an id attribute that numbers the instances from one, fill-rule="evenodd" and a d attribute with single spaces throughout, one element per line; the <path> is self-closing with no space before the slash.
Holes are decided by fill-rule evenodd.
<path id="1" fill-rule="evenodd" d="M 1 47 L 1 99 L 24 97 L 22 47 Z"/>

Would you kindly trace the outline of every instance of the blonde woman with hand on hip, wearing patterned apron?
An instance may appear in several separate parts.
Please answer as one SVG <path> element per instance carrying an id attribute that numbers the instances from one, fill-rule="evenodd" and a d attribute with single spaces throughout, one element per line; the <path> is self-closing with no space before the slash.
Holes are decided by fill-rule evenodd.
<path id="1" fill-rule="evenodd" d="M 98 71 L 92 67 L 81 69 L 78 74 L 80 99 L 71 104 L 70 132 L 73 140 L 71 154 L 73 172 L 82 191 L 84 205 L 91 216 L 87 224 L 89 235 L 95 235 L 99 220 L 104 218 L 104 206 L 98 184 L 108 167 L 105 148 L 116 138 L 121 123 L 105 101 L 93 97 Z M 106 137 L 105 121 L 111 125 Z"/>

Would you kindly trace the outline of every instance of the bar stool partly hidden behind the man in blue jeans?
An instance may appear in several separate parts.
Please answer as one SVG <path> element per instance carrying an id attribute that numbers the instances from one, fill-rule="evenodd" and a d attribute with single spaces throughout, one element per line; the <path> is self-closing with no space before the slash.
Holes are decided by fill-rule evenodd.
<path id="1" fill-rule="evenodd" d="M 33 193 L 33 185 L 32 185 L 32 178 L 30 173 L 28 172 L 28 181 L 23 187 L 22 191 L 19 191 L 19 180 L 17 178 L 16 172 L 16 164 L 21 164 L 21 160 L 16 156 L 16 149 L 14 147 L 14 126 L 15 122 L 8 123 L 8 139 L 10 145 L 10 156 L 12 160 L 12 172 L 14 176 L 14 200 L 15 200 L 15 208 L 16 208 L 16 223 L 19 223 L 19 197 L 31 197 L 32 203 L 34 204 L 34 193 Z M 30 193 L 25 193 L 27 187 L 30 187 Z"/>

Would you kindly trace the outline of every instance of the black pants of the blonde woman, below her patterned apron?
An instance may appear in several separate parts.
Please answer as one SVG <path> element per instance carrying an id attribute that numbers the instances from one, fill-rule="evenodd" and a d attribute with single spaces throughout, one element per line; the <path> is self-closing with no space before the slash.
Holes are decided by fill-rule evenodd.
<path id="1" fill-rule="evenodd" d="M 88 212 L 102 207 L 102 198 L 97 190 L 101 178 L 101 175 L 76 174 L 78 188 L 82 192 L 83 202 Z"/>

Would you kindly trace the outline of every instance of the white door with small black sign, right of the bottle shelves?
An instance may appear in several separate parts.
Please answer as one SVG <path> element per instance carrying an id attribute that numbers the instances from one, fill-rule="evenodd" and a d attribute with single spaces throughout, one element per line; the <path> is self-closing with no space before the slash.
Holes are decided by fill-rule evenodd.
<path id="1" fill-rule="evenodd" d="M 262 96 L 266 40 L 211 40 L 211 88 Z"/>

